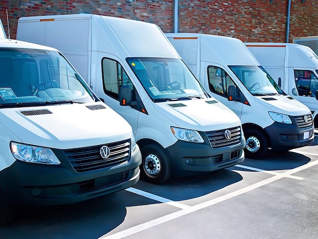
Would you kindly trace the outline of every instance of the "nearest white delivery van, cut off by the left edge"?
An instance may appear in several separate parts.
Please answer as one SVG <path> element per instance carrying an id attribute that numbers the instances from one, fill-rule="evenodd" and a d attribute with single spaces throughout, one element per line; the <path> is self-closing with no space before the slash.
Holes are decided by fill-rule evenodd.
<path id="1" fill-rule="evenodd" d="M 0 225 L 21 204 L 69 204 L 137 183 L 132 127 L 56 49 L 0 39 Z"/>

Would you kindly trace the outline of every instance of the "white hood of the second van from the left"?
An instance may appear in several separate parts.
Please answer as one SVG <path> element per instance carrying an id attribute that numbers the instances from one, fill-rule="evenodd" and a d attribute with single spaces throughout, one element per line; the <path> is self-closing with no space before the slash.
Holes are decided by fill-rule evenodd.
<path id="1" fill-rule="evenodd" d="M 180 128 L 211 131 L 241 125 L 237 115 L 214 98 L 156 103 L 154 109 Z"/>

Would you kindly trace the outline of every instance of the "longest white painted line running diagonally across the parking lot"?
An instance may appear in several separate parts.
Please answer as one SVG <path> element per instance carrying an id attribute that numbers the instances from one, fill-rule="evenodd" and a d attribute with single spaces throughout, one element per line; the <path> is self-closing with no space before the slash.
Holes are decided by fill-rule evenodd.
<path id="1" fill-rule="evenodd" d="M 190 214 L 190 213 L 193 213 L 193 212 L 196 212 L 198 210 L 201 210 L 201 209 L 204 209 L 204 208 L 207 208 L 207 207 L 210 207 L 218 202 L 222 202 L 222 201 L 225 201 L 227 199 L 230 199 L 232 197 L 235 197 L 235 196 L 238 196 L 238 195 L 241 195 L 243 193 L 246 193 L 246 192 L 249 192 L 253 189 L 257 189 L 261 186 L 264 186 L 266 184 L 269 184 L 269 183 L 272 183 L 276 180 L 279 180 L 279 179 L 282 179 L 282 178 L 285 178 L 291 174 L 295 174 L 301 170 L 304 170 L 304 169 L 307 169 L 309 167 L 312 167 L 314 165 L 317 165 L 318 164 L 318 160 L 315 160 L 315 161 L 311 161 L 307 164 L 304 164 L 300 167 L 297 167 L 297 168 L 294 168 L 294 169 L 291 169 L 291 170 L 288 170 L 286 172 L 283 172 L 279 175 L 275 175 L 271 178 L 268 178 L 268 179 L 265 179 L 261 182 L 258 182 L 258 183 L 255 183 L 255 184 L 252 184 L 250 186 L 247 186 L 245 188 L 241 188 L 239 190 L 236 190 L 234 192 L 231 192 L 231 193 L 228 193 L 228 194 L 225 194 L 223 196 L 220 196 L 220 197 L 217 197 L 217 198 L 214 198 L 214 199 L 211 199 L 209 201 L 206 201 L 206 202 L 202 202 L 200 204 L 197 204 L 195 206 L 192 206 L 192 207 L 188 207 L 186 209 L 182 209 L 180 211 L 177 211 L 177 212 L 174 212 L 174 213 L 171 213 L 171 214 L 168 214 L 166 216 L 163 216 L 163 217 L 160 217 L 160 218 L 156 218 L 156 219 L 153 219 L 151 221 L 148 221 L 148 222 L 145 222 L 145 223 L 142 223 L 142 224 L 139 224 L 137 226 L 134 226 L 134 227 L 131 227 L 131 228 L 128 228 L 128 229 L 125 229 L 125 230 L 122 230 L 122 231 L 119 231 L 119 232 L 116 232 L 114 234 L 111 234 L 111 235 L 103 235 L 101 237 L 99 237 L 99 239 L 101 238 L 106 238 L 106 239 L 118 239 L 118 238 L 123 238 L 123 237 L 126 237 L 126 236 L 129 236 L 129 235 L 133 235 L 135 233 L 138 233 L 140 231 L 143 231 L 143 230 L 146 230 L 146 229 L 149 229 L 153 226 L 156 226 L 156 225 L 160 225 L 162 223 L 165 223 L 165 222 L 168 222 L 168 221 L 171 221 L 173 219 L 176 219 L 176 218 L 179 218 L 181 216 L 184 216 L 184 215 L 187 215 L 187 214 Z"/>

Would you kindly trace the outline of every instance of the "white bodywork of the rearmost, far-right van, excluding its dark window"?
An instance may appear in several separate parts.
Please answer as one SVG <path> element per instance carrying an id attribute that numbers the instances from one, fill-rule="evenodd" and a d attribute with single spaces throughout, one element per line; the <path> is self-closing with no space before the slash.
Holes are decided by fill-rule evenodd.
<path id="1" fill-rule="evenodd" d="M 318 112 L 315 97 L 298 95 L 294 70 L 312 71 L 318 78 L 318 56 L 307 46 L 293 43 L 245 43 L 264 69 L 278 82 L 281 88 L 307 106 L 313 115 Z"/>

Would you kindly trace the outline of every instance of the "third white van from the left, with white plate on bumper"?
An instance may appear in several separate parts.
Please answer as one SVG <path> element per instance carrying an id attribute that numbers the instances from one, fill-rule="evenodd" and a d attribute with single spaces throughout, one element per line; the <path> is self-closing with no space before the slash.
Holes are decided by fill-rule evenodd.
<path id="1" fill-rule="evenodd" d="M 281 91 L 242 41 L 193 33 L 166 36 L 213 97 L 240 117 L 246 157 L 313 142 L 309 109 Z"/>

